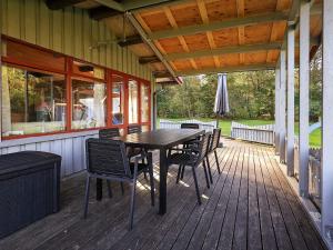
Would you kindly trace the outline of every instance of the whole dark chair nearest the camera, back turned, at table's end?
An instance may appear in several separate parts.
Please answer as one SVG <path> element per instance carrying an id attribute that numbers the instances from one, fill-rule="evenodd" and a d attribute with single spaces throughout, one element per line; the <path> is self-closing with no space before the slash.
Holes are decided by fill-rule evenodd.
<path id="1" fill-rule="evenodd" d="M 129 218 L 129 229 L 133 227 L 133 212 L 135 202 L 135 187 L 138 176 L 144 171 L 150 174 L 151 204 L 154 206 L 154 180 L 152 169 L 152 154 L 148 154 L 148 163 L 139 163 L 142 156 L 135 157 L 135 162 L 131 163 L 127 157 L 125 144 L 119 140 L 100 140 L 95 138 L 85 141 L 87 153 L 87 187 L 84 199 L 84 218 L 87 218 L 90 179 L 100 178 L 115 180 L 131 184 L 131 207 Z"/>

